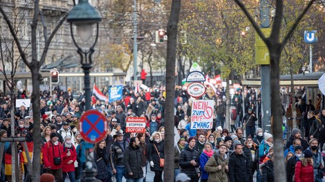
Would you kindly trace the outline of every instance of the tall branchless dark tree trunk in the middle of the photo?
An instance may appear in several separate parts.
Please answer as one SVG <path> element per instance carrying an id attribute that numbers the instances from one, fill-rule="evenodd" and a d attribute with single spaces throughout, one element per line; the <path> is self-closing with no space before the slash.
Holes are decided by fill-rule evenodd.
<path id="1" fill-rule="evenodd" d="M 174 181 L 174 98 L 175 65 L 177 45 L 177 25 L 180 0 L 173 0 L 167 26 L 167 63 L 166 63 L 166 110 L 165 110 L 165 168 L 164 181 Z"/>

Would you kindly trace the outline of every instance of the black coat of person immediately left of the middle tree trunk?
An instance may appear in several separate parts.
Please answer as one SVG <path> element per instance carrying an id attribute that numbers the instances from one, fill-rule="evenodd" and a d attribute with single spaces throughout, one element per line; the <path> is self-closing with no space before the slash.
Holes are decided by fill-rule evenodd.
<path id="1" fill-rule="evenodd" d="M 152 168 L 150 166 L 150 170 L 151 171 L 163 171 L 164 168 L 160 168 L 159 166 L 159 156 L 157 153 L 157 150 L 160 154 L 160 158 L 164 159 L 164 141 L 160 141 L 159 143 L 157 143 L 156 141 L 150 141 L 148 144 L 148 161 L 153 161 L 154 162 L 154 168 Z"/>

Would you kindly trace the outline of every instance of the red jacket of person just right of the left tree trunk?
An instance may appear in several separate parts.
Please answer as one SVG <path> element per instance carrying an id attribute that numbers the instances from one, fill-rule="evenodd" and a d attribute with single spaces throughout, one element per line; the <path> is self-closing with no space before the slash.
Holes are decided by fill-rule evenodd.
<path id="1" fill-rule="evenodd" d="M 46 142 L 43 146 L 42 152 L 43 152 L 44 168 L 50 167 L 50 170 L 58 170 L 62 168 L 63 146 L 60 142 L 59 145 L 53 145 L 52 141 Z M 61 164 L 55 165 L 54 157 L 61 157 Z"/>

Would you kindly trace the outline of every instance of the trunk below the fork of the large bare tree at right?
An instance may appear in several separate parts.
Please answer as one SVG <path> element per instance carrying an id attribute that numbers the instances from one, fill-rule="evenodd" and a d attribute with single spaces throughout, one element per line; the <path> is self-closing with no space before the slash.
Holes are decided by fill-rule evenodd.
<path id="1" fill-rule="evenodd" d="M 284 147 L 280 145 L 283 143 L 282 119 L 281 119 L 281 99 L 280 99 L 280 85 L 279 85 L 279 60 L 281 57 L 281 50 L 279 44 L 273 44 L 270 50 L 271 61 L 271 109 L 273 115 L 272 131 L 274 137 L 274 154 L 275 154 L 275 181 L 286 181 L 286 168 L 284 166 Z"/>

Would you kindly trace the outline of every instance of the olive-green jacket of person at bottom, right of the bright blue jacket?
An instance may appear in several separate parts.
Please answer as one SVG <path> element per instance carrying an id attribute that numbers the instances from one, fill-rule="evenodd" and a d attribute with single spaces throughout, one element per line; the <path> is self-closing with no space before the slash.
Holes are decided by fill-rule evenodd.
<path id="1" fill-rule="evenodd" d="M 216 161 L 217 159 L 217 161 Z M 221 170 L 217 167 L 221 165 Z M 205 171 L 209 174 L 207 181 L 209 182 L 228 182 L 227 170 L 225 166 L 228 165 L 228 156 L 225 154 L 221 156 L 219 152 L 214 154 L 204 166 Z"/>

